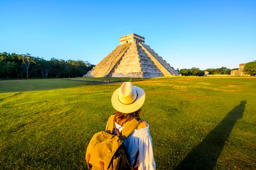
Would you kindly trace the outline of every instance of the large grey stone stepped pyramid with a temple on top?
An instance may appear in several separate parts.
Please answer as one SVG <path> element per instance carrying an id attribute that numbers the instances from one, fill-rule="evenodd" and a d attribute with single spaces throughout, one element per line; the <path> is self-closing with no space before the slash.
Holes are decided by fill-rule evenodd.
<path id="1" fill-rule="evenodd" d="M 120 45 L 84 77 L 160 77 L 178 76 L 170 64 L 144 44 L 135 33 L 120 37 Z"/>

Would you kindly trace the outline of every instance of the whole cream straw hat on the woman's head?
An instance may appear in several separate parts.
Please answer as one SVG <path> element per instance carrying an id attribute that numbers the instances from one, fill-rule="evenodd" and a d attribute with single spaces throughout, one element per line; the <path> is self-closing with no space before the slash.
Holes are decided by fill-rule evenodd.
<path id="1" fill-rule="evenodd" d="M 145 101 L 142 88 L 133 86 L 131 82 L 124 82 L 112 95 L 113 107 L 122 113 L 132 113 L 139 110 Z"/>

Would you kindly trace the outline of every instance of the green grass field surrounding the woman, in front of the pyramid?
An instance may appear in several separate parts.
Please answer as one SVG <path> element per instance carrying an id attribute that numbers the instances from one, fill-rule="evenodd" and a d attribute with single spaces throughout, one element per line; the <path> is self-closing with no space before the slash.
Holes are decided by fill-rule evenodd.
<path id="1" fill-rule="evenodd" d="M 256 169 L 256 79 L 174 77 L 133 82 L 146 92 L 157 169 Z M 0 81 L 0 169 L 87 169 L 120 83 Z"/>

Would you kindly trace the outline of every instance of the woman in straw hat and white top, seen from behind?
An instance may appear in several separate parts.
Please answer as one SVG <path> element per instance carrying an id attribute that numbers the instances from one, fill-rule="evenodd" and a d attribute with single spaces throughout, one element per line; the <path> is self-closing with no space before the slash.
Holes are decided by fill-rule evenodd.
<path id="1" fill-rule="evenodd" d="M 144 90 L 140 87 L 133 86 L 131 82 L 124 82 L 120 88 L 114 91 L 111 102 L 116 110 L 114 125 L 119 132 L 121 132 L 135 116 L 140 117 L 140 108 L 144 100 Z M 152 138 L 149 134 L 148 127 L 149 125 L 143 121 L 124 140 L 131 167 L 135 167 L 135 169 L 155 170 Z M 133 164 L 135 164 L 135 166 L 133 166 Z"/>

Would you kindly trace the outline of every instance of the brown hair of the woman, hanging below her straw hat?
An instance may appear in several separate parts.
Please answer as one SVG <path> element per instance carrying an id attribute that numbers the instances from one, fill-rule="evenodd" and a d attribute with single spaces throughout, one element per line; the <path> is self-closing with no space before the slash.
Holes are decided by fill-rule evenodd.
<path id="1" fill-rule="evenodd" d="M 122 113 L 117 110 L 115 110 L 114 112 L 116 113 L 114 121 L 121 126 L 131 121 L 135 116 L 138 118 L 140 117 L 140 109 L 132 113 Z"/>

